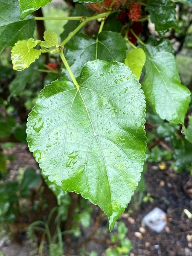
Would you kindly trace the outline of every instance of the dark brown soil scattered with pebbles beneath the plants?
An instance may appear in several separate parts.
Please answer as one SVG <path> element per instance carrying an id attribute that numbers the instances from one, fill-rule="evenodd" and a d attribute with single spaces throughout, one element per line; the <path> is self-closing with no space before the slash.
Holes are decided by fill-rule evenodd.
<path id="1" fill-rule="evenodd" d="M 13 155 L 15 160 L 10 162 L 10 177 L 15 179 L 17 170 L 20 167 L 33 167 L 38 169 L 32 154 L 27 150 L 26 145 L 17 144 L 14 148 L 7 151 L 7 155 Z M 192 219 L 189 219 L 183 212 L 188 209 L 192 212 L 192 179 L 187 172 L 176 174 L 169 165 L 165 170 L 161 170 L 156 165 L 148 165 L 145 173 L 146 192 L 150 192 L 154 202 L 142 203 L 134 208 L 130 204 L 125 213 L 120 218 L 128 227 L 127 237 L 132 241 L 133 249 L 131 256 L 191 256 L 192 255 L 192 238 L 187 235 L 192 234 Z M 137 200 L 137 198 L 136 198 Z M 148 227 L 140 229 L 143 217 L 155 207 L 159 207 L 166 212 L 167 226 L 162 233 L 155 233 Z M 134 212 L 131 214 L 130 212 Z M 82 237 L 79 241 L 88 237 L 94 227 L 98 207 L 94 206 L 93 219 L 89 229 L 82 229 Z M 137 233 L 141 233 L 140 238 Z M 0 250 L 6 253 L 6 256 L 29 256 L 29 249 L 25 249 L 26 236 L 21 238 L 21 246 L 12 242 L 4 244 Z M 109 238 L 108 223 L 104 217 L 100 222 L 98 232 L 96 233 L 97 241 L 90 241 L 86 244 L 88 251 L 95 250 L 99 256 L 104 255 L 108 245 L 103 243 L 105 237 Z M 99 239 L 101 242 L 99 242 Z M 72 240 L 76 244 L 77 240 Z M 17 248 L 17 249 L 15 249 Z M 20 248 L 20 249 L 19 249 Z M 15 250 L 15 254 L 14 254 Z M 17 251 L 17 252 L 16 252 Z M 79 255 L 78 250 L 69 250 L 70 254 Z"/>

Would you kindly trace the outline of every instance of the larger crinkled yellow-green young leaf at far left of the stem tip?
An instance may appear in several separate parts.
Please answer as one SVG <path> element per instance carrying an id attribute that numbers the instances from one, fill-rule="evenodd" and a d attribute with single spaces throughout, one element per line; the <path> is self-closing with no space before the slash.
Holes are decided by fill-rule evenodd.
<path id="1" fill-rule="evenodd" d="M 38 59 L 40 55 L 40 50 L 28 48 L 27 41 L 18 41 L 12 48 L 13 69 L 18 71 L 24 70 Z"/>

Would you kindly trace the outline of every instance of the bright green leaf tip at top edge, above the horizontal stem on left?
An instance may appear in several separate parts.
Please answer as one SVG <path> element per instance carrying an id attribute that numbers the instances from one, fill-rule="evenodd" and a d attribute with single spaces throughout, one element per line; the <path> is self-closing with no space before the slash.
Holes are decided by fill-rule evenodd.
<path id="1" fill-rule="evenodd" d="M 23 20 L 28 14 L 46 6 L 52 0 L 19 0 L 20 18 Z"/>

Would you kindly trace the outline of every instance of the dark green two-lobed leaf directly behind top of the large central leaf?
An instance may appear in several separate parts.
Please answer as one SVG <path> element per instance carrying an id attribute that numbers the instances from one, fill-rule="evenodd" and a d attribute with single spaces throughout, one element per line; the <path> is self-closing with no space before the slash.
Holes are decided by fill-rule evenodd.
<path id="1" fill-rule="evenodd" d="M 66 44 L 65 57 L 73 74 L 78 77 L 87 61 L 99 59 L 124 63 L 126 50 L 125 39 L 116 32 L 101 32 L 98 41 L 85 34 L 78 33 Z"/>

